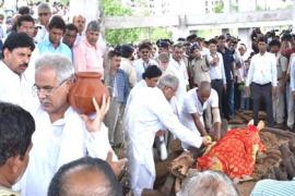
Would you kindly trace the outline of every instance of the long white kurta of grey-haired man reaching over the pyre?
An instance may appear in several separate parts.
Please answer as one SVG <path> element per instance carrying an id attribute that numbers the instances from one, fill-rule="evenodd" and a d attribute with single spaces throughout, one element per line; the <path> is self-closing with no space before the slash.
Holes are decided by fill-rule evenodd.
<path id="1" fill-rule="evenodd" d="M 137 166 L 143 166 L 151 175 L 155 176 L 152 147 L 156 132 L 163 127 L 191 146 L 198 148 L 202 144 L 202 137 L 193 134 L 179 122 L 163 91 L 157 87 L 138 89 L 129 105 L 125 126 L 128 131 L 131 175 Z"/>

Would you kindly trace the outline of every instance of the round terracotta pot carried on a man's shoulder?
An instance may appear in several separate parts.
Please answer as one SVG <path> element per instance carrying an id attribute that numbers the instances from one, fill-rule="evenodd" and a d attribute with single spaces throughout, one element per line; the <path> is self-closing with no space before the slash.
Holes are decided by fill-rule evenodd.
<path id="1" fill-rule="evenodd" d="M 90 114 L 95 112 L 92 98 L 102 106 L 103 96 L 108 97 L 108 90 L 101 81 L 97 72 L 78 72 L 69 94 L 69 101 L 79 113 Z"/>

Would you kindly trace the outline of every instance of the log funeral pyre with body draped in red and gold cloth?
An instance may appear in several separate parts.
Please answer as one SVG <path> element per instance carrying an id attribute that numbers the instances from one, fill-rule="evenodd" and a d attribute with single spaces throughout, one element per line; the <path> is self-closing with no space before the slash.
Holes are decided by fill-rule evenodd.
<path id="1" fill-rule="evenodd" d="M 243 119 L 244 122 L 247 120 Z M 169 162 L 169 174 L 162 189 L 173 195 L 190 168 L 223 171 L 237 183 L 255 184 L 261 179 L 291 180 L 295 176 L 295 134 L 263 126 L 259 123 L 257 127 L 232 128 L 197 159 L 182 152 Z"/>

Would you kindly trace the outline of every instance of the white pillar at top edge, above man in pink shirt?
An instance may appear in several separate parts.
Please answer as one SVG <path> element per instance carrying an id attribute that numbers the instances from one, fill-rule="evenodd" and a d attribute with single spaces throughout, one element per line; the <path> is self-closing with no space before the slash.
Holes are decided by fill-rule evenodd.
<path id="1" fill-rule="evenodd" d="M 71 0 L 70 17 L 82 14 L 86 17 L 86 22 L 99 19 L 99 0 Z"/>

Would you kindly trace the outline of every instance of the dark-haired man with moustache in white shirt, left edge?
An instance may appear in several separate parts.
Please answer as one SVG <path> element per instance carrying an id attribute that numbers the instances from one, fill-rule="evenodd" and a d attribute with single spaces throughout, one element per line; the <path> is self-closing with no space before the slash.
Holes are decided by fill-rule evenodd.
<path id="1" fill-rule="evenodd" d="M 34 49 L 33 39 L 25 33 L 11 34 L 4 42 L 0 62 L 0 101 L 19 105 L 28 111 L 35 99 L 24 72 Z"/>

